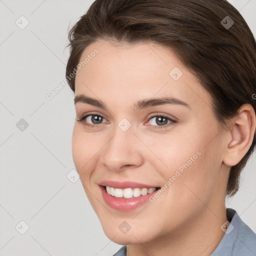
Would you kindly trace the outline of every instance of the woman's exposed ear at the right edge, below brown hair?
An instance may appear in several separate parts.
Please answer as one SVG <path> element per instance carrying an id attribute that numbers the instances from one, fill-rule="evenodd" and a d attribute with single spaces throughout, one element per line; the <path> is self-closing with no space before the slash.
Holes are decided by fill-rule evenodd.
<path id="1" fill-rule="evenodd" d="M 255 134 L 255 112 L 251 104 L 243 104 L 232 120 L 228 131 L 226 150 L 223 163 L 228 166 L 236 165 L 249 150 Z M 230 140 L 231 137 L 231 140 Z"/>

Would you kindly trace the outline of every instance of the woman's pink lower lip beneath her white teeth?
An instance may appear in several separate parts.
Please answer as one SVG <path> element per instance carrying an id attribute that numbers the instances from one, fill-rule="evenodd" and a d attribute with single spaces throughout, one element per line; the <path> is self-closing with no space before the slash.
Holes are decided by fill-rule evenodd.
<path id="1" fill-rule="evenodd" d="M 116 210 L 129 211 L 138 208 L 147 201 L 149 197 L 156 193 L 159 189 L 154 190 L 152 193 L 146 195 L 140 195 L 137 197 L 123 198 L 123 197 L 114 197 L 108 194 L 104 186 L 99 186 L 102 197 L 105 200 L 106 204 Z"/>

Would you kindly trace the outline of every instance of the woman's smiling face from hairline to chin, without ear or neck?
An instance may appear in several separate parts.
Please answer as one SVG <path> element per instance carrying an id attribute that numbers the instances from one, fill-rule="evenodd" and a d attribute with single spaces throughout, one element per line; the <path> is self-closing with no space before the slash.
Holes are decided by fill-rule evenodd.
<path id="1" fill-rule="evenodd" d="M 196 77 L 172 51 L 151 43 L 97 41 L 85 58 L 75 78 L 75 110 L 76 119 L 87 117 L 75 120 L 72 154 L 106 235 L 119 244 L 147 242 L 216 218 L 227 179 L 226 139 Z M 131 189 L 109 188 L 115 197 L 106 184 Z M 134 196 L 118 197 L 123 192 Z"/>

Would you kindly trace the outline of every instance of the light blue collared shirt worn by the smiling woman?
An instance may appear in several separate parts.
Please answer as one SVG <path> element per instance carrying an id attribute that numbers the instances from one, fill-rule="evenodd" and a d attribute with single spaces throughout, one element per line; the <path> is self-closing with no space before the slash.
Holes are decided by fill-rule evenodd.
<path id="1" fill-rule="evenodd" d="M 256 234 L 241 220 L 235 210 L 227 208 L 226 216 L 230 224 L 209 256 L 256 256 Z M 223 230 L 224 227 L 225 225 Z M 126 256 L 126 246 L 122 246 L 112 256 Z"/>

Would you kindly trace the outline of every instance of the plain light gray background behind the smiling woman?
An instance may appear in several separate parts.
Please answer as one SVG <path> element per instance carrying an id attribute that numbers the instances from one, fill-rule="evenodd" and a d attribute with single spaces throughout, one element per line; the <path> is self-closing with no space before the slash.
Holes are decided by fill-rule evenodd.
<path id="1" fill-rule="evenodd" d="M 92 2 L 0 0 L 0 256 L 103 256 L 121 247 L 103 233 L 80 179 L 66 176 L 75 168 L 73 92 L 65 84 L 46 98 L 65 77 L 68 25 Z M 230 2 L 256 34 L 256 0 Z M 24 29 L 21 15 L 29 21 Z M 226 203 L 254 232 L 255 166 L 254 153 Z"/>

